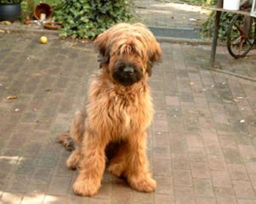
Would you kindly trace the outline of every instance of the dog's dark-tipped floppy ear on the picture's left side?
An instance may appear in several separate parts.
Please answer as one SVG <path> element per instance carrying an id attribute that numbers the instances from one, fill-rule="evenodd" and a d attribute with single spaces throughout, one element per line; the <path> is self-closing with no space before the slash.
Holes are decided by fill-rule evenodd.
<path id="1" fill-rule="evenodd" d="M 97 51 L 99 51 L 99 62 L 100 67 L 109 62 L 109 30 L 104 31 L 102 34 L 99 34 L 99 36 L 94 40 L 95 48 Z"/>

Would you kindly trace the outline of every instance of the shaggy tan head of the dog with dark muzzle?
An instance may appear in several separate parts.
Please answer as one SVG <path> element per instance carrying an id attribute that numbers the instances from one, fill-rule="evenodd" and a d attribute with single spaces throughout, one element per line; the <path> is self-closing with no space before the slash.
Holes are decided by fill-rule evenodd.
<path id="1" fill-rule="evenodd" d="M 143 24 L 119 23 L 94 41 L 100 53 L 100 67 L 116 82 L 129 86 L 146 74 L 162 56 L 160 45 Z"/>

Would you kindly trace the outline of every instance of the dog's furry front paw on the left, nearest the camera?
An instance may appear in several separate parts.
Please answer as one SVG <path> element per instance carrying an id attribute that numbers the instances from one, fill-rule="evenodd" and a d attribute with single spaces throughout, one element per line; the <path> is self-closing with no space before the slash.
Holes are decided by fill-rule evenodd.
<path id="1" fill-rule="evenodd" d="M 86 178 L 84 180 L 77 179 L 73 184 L 73 191 L 77 195 L 92 196 L 95 195 L 100 188 L 100 183 L 93 179 Z"/>

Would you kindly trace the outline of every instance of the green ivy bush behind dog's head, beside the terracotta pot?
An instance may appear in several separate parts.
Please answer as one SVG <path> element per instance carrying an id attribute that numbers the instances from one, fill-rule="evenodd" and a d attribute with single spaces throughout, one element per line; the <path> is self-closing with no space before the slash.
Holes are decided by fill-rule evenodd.
<path id="1" fill-rule="evenodd" d="M 133 0 L 63 0 L 55 20 L 63 24 L 61 37 L 91 39 L 133 14 Z"/>

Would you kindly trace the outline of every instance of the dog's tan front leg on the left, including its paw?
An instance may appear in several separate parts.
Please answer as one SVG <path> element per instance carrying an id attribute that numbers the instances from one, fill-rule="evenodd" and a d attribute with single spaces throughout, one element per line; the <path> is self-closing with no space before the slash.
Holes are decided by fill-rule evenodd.
<path id="1" fill-rule="evenodd" d="M 86 131 L 79 175 L 73 184 L 76 194 L 91 196 L 98 192 L 105 169 L 105 142 L 96 133 Z"/>

